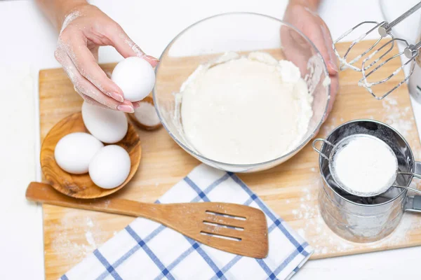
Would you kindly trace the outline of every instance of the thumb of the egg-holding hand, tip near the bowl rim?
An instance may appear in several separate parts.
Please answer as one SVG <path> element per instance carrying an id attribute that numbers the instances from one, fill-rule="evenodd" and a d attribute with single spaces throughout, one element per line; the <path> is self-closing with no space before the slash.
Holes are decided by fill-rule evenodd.
<path id="1" fill-rule="evenodd" d="M 159 59 L 146 55 L 138 45 L 126 34 L 126 32 L 117 25 L 116 29 L 109 29 L 107 37 L 112 43 L 112 46 L 122 55 L 124 58 L 127 57 L 140 57 L 145 59 L 152 67 L 158 64 Z"/>

